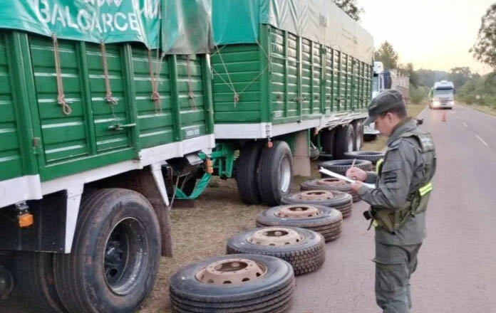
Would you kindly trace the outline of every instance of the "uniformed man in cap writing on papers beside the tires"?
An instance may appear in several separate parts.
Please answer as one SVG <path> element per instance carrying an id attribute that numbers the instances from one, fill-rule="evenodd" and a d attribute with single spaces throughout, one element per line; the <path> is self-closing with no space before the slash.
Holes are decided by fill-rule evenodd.
<path id="1" fill-rule="evenodd" d="M 400 92 L 381 92 L 368 105 L 365 124 L 376 122 L 386 135 L 387 151 L 376 172 L 355 167 L 346 175 L 356 179 L 351 189 L 371 205 L 363 213 L 376 229 L 376 301 L 384 313 L 410 312 L 410 275 L 425 238 L 425 209 L 435 172 L 435 149 L 430 134 L 407 118 Z M 375 189 L 361 181 L 376 183 Z"/>

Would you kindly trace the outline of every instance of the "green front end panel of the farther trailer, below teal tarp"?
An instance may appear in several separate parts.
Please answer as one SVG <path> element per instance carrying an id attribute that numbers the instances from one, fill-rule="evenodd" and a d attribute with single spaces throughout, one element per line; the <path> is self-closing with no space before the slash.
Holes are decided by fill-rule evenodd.
<path id="1" fill-rule="evenodd" d="M 261 122 L 259 53 L 256 44 L 223 46 L 212 53 L 216 123 Z M 235 101 L 234 93 L 239 95 L 239 101 Z"/>

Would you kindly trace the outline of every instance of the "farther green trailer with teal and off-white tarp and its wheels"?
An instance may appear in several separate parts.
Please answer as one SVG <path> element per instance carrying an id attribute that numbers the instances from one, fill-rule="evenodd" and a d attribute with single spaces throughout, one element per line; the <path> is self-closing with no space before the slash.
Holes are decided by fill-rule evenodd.
<path id="1" fill-rule="evenodd" d="M 361 148 L 373 39 L 356 21 L 327 0 L 213 0 L 212 27 L 212 159 L 245 203 L 279 204 L 313 148 Z"/>

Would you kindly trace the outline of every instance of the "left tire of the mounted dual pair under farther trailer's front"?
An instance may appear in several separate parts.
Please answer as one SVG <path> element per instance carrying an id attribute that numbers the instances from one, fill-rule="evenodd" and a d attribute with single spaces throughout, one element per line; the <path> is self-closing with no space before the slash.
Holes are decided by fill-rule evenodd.
<path id="1" fill-rule="evenodd" d="M 262 196 L 257 181 L 260 153 L 264 148 L 263 142 L 247 142 L 241 149 L 236 161 L 236 181 L 239 196 L 244 203 L 260 204 Z"/>

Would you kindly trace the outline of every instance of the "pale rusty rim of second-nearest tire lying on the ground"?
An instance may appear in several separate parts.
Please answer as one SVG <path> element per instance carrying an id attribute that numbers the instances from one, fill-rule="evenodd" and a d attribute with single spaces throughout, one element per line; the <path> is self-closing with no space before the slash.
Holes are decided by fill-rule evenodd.
<path id="1" fill-rule="evenodd" d="M 248 238 L 248 242 L 254 245 L 280 247 L 283 245 L 296 245 L 304 240 L 304 236 L 284 227 L 271 227 L 257 230 Z"/>

